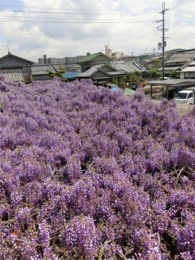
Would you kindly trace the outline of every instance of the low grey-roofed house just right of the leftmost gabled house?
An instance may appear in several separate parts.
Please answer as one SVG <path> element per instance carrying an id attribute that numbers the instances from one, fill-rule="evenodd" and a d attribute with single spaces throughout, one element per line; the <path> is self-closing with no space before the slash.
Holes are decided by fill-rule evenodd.
<path id="1" fill-rule="evenodd" d="M 42 64 L 32 66 L 31 70 L 33 80 L 51 80 L 52 77 L 49 75 L 48 71 L 56 73 L 58 71 L 58 68 L 56 65 Z"/>

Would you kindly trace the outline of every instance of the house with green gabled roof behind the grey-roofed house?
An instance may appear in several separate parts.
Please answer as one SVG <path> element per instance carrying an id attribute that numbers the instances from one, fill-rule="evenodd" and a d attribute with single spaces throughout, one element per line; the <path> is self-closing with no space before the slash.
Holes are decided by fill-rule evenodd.
<path id="1" fill-rule="evenodd" d="M 91 54 L 77 63 L 81 65 L 81 72 L 85 72 L 86 70 L 90 69 L 94 65 L 98 64 L 110 64 L 112 58 L 103 54 L 102 52 L 98 52 L 95 54 Z"/>

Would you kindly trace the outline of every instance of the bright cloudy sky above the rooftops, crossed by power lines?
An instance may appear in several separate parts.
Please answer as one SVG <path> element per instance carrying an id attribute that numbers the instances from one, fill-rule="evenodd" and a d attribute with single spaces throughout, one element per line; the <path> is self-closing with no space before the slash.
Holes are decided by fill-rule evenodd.
<path id="1" fill-rule="evenodd" d="M 195 48 L 194 0 L 166 0 L 166 50 Z M 159 0 L 0 0 L 0 57 L 38 61 L 113 52 L 160 52 Z M 161 28 L 161 27 L 160 27 Z"/>

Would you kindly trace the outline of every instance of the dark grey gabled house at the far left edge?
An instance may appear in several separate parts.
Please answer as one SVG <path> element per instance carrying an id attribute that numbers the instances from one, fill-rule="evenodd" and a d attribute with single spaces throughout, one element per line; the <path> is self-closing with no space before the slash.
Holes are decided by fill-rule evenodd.
<path id="1" fill-rule="evenodd" d="M 10 52 L 8 52 L 7 55 L 0 58 L 0 70 L 3 72 L 3 74 L 6 74 L 8 78 L 10 77 L 10 79 L 14 79 L 15 77 L 17 77 L 17 79 L 22 79 L 23 77 L 22 81 L 24 82 L 32 81 L 31 67 L 33 66 L 33 64 L 33 61 L 15 56 Z M 15 71 L 13 72 L 15 74 L 11 74 L 10 71 Z M 20 74 L 22 74 L 22 77 Z"/>

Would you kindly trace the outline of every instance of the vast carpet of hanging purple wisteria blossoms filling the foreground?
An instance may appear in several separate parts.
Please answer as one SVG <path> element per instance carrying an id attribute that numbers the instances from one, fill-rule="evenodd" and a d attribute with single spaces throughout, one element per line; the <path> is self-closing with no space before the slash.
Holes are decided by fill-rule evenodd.
<path id="1" fill-rule="evenodd" d="M 195 109 L 0 77 L 0 260 L 195 259 Z"/>

